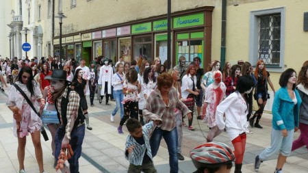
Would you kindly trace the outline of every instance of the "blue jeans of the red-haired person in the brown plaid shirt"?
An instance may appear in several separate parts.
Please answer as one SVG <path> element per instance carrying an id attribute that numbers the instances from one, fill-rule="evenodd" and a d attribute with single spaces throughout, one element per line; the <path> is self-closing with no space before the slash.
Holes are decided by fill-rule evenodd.
<path id="1" fill-rule="evenodd" d="M 177 127 L 172 129 L 172 131 L 164 131 L 157 127 L 153 131 L 153 135 L 150 139 L 153 157 L 157 154 L 162 137 L 164 137 L 168 147 L 170 173 L 177 173 L 179 172 L 179 161 L 177 160 Z"/>

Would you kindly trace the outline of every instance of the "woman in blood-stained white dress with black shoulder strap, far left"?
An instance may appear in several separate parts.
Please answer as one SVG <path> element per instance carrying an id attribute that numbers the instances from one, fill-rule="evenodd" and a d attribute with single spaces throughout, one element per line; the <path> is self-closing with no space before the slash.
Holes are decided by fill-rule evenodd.
<path id="1" fill-rule="evenodd" d="M 42 98 L 42 92 L 38 87 L 38 83 L 34 81 L 32 70 L 29 66 L 24 66 L 18 74 L 16 85 L 21 88 L 25 95 L 29 98 L 34 107 L 44 108 L 45 101 Z M 12 110 L 14 114 L 14 135 L 18 139 L 17 157 L 19 162 L 19 172 L 25 172 L 25 144 L 26 136 L 31 134 L 34 150 L 36 153 L 36 161 L 40 172 L 44 172 L 42 146 L 40 144 L 40 129 L 42 127 L 42 120 L 38 114 L 27 103 L 24 96 L 12 85 L 6 105 Z M 36 110 L 38 111 L 38 110 Z"/>

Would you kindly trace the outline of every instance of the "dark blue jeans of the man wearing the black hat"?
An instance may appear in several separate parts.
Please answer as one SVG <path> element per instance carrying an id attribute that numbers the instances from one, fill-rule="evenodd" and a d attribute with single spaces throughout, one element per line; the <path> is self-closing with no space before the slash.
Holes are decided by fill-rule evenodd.
<path id="1" fill-rule="evenodd" d="M 55 159 L 59 157 L 61 151 L 62 139 L 65 135 L 65 127 L 60 127 L 55 134 Z M 79 172 L 79 157 L 81 156 L 81 146 L 82 142 L 84 142 L 85 135 L 85 125 L 82 124 L 79 127 L 76 127 L 70 133 L 70 146 L 72 146 L 74 155 L 68 159 L 68 163 L 70 163 L 70 172 L 78 173 Z"/>

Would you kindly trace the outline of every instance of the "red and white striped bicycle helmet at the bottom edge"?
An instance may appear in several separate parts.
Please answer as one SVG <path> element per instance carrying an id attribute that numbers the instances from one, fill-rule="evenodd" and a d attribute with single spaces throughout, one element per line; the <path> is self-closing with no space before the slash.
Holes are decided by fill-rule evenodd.
<path id="1" fill-rule="evenodd" d="M 234 161 L 234 154 L 226 144 L 208 142 L 190 151 L 190 158 L 194 166 L 199 168 L 215 168 Z"/>

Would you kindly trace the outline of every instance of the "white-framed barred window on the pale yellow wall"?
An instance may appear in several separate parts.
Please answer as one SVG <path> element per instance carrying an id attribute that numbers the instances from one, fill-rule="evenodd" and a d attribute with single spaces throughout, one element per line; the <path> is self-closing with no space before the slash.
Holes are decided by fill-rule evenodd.
<path id="1" fill-rule="evenodd" d="M 270 71 L 284 68 L 285 8 L 251 12 L 249 60 L 261 59 Z"/>

